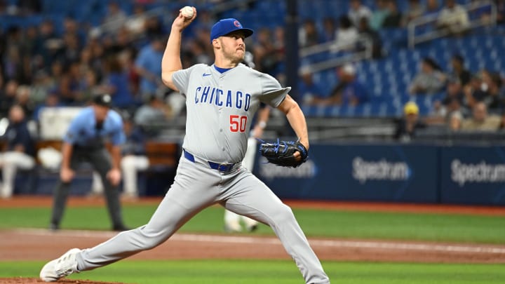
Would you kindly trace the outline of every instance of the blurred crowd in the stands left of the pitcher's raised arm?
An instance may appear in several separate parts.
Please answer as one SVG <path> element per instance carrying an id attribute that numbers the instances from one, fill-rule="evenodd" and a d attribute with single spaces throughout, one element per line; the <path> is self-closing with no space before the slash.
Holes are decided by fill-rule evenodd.
<path id="1" fill-rule="evenodd" d="M 127 16 L 111 1 L 100 27 L 70 17 L 60 28 L 50 18 L 39 26 L 8 27 L 0 38 L 0 116 L 20 104 L 36 121 L 42 107 L 83 106 L 100 93 L 111 94 L 114 106 L 130 114 L 152 96 L 164 100 L 166 27 L 142 12 L 138 4 Z"/>

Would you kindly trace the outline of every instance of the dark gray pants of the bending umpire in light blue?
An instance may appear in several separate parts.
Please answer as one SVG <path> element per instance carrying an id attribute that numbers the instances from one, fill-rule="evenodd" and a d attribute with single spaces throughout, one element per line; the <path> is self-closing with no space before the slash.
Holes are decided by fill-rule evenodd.
<path id="1" fill-rule="evenodd" d="M 88 162 L 93 166 L 102 179 L 105 187 L 105 197 L 107 199 L 107 208 L 112 220 L 113 229 L 123 229 L 123 217 L 121 215 L 121 203 L 119 202 L 119 187 L 112 185 L 107 179 L 107 172 L 112 168 L 109 151 L 105 147 L 90 149 L 74 145 L 72 157 L 70 158 L 70 168 L 76 170 L 83 162 Z M 71 182 L 58 182 L 53 192 L 53 215 L 51 225 L 58 228 L 65 211 L 65 205 L 70 192 Z"/>

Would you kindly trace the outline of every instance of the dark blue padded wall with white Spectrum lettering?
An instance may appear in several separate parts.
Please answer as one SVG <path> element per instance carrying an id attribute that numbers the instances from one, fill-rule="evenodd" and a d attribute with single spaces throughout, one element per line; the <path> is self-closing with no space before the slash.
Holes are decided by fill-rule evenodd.
<path id="1" fill-rule="evenodd" d="M 295 169 L 258 158 L 281 198 L 505 205 L 504 147 L 312 144 Z"/>

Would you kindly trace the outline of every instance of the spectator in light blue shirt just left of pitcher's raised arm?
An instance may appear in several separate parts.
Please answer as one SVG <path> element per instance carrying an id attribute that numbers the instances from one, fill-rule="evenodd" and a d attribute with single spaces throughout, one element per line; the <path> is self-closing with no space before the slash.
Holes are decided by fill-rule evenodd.
<path id="1" fill-rule="evenodd" d="M 144 46 L 135 60 L 135 68 L 140 75 L 140 93 L 148 95 L 156 93 L 156 90 L 161 83 L 161 58 L 163 58 L 163 48 L 165 40 L 161 37 L 156 37 L 151 40 L 151 43 Z"/>

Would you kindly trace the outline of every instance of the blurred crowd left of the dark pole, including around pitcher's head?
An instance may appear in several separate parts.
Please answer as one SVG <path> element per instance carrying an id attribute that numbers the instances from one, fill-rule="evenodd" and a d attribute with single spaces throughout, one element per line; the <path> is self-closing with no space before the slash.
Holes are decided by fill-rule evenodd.
<path id="1" fill-rule="evenodd" d="M 18 6 L 2 5 L 3 13 L 40 13 L 38 0 L 18 1 Z M 37 121 L 43 107 L 83 106 L 93 95 L 109 93 L 114 107 L 133 119 L 142 105 L 156 97 L 166 119 L 184 111 L 182 96 L 173 95 L 161 82 L 161 58 L 168 39 L 170 22 L 179 13 L 145 13 L 145 4 L 136 0 L 133 13 L 121 9 L 120 1 L 107 2 L 102 25 L 92 27 L 65 17 L 62 27 L 47 18 L 40 25 L 11 25 L 0 34 L 0 117 L 6 117 L 13 104 L 25 116 Z M 214 1 L 215 3 L 219 1 Z M 182 5 L 182 4 L 181 4 Z M 169 22 L 169 24 L 170 24 Z M 206 9 L 184 33 L 183 67 L 213 63 L 209 44 L 215 16 Z M 269 29 L 257 31 L 257 43 L 248 49 L 250 65 L 274 76 L 281 76 L 283 28 L 271 39 Z M 149 124 L 149 121 L 135 122 Z"/>

